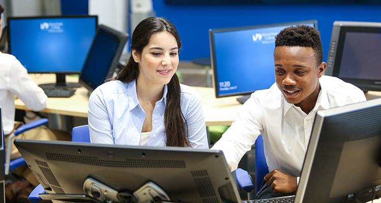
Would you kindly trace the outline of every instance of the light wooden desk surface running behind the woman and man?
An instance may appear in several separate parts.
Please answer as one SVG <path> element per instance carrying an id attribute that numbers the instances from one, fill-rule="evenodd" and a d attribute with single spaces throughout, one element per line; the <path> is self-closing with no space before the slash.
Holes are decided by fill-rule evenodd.
<path id="1" fill-rule="evenodd" d="M 54 74 L 29 74 L 37 83 L 49 83 L 55 80 Z M 78 77 L 67 76 L 68 82 L 78 82 Z M 238 110 L 242 106 L 236 98 L 230 96 L 215 98 L 214 89 L 211 87 L 194 87 L 200 94 L 204 109 L 205 122 L 210 125 L 231 125 L 236 117 Z M 42 110 L 44 113 L 60 114 L 76 117 L 87 117 L 88 91 L 86 88 L 78 88 L 75 94 L 69 98 L 48 98 L 47 108 Z M 381 92 L 369 91 L 365 93 L 367 99 L 381 97 Z M 15 100 L 16 109 L 29 110 L 20 99 Z"/>

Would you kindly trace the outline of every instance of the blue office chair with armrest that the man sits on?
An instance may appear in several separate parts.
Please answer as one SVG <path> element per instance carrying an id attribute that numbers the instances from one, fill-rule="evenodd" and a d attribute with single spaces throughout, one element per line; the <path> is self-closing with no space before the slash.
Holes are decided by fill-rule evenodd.
<path id="1" fill-rule="evenodd" d="M 261 189 L 263 178 L 269 173 L 269 167 L 267 166 L 265 151 L 263 147 L 263 138 L 260 135 L 255 143 L 256 150 L 256 193 Z M 237 168 L 236 179 L 240 187 L 248 193 L 248 199 L 251 199 L 251 194 L 254 185 L 252 184 L 251 177 L 247 171 L 242 170 L 242 168 Z"/>

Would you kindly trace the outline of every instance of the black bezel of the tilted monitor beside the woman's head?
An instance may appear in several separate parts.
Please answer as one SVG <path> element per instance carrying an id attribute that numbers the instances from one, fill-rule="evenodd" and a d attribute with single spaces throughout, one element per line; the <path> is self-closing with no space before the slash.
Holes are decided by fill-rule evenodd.
<path id="1" fill-rule="evenodd" d="M 116 29 L 113 29 L 113 28 L 108 27 L 108 26 L 103 25 L 103 24 L 99 25 L 97 32 L 96 32 L 96 35 L 94 36 L 93 42 L 91 43 L 89 52 L 87 53 L 85 62 L 83 63 L 82 71 L 79 74 L 79 83 L 82 86 L 84 86 L 89 91 L 89 93 L 91 93 L 94 89 L 96 89 L 98 87 L 98 85 L 93 84 L 90 81 L 90 79 L 84 74 L 84 72 L 85 72 L 84 69 L 86 68 L 86 64 L 88 63 L 88 61 L 90 59 L 90 57 L 89 57 L 90 51 L 93 49 L 94 43 L 96 42 L 96 38 L 98 37 L 98 33 L 100 30 L 104 30 L 104 31 L 108 32 L 110 35 L 112 35 L 118 41 L 118 47 L 115 51 L 115 55 L 111 61 L 111 64 L 108 67 L 107 74 L 104 77 L 105 80 L 107 80 L 113 76 L 114 71 L 116 69 L 116 66 L 119 63 L 119 59 L 120 59 L 120 56 L 121 56 L 122 51 L 124 49 L 124 46 L 125 46 L 126 42 L 128 41 L 128 38 L 129 38 L 128 33 L 118 31 Z"/>

